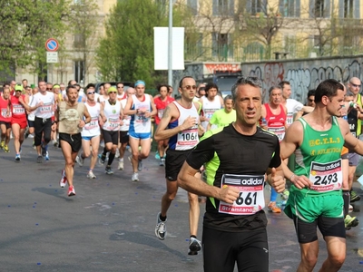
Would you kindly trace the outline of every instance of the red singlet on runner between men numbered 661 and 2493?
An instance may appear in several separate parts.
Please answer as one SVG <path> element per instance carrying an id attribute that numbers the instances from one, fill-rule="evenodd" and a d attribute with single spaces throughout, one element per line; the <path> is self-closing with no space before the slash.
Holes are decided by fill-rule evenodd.
<path id="1" fill-rule="evenodd" d="M 269 103 L 265 103 L 265 108 L 268 131 L 274 133 L 278 136 L 279 141 L 282 141 L 285 136 L 286 122 L 286 113 L 283 106 L 280 105 L 280 113 L 277 115 L 271 112 Z"/>

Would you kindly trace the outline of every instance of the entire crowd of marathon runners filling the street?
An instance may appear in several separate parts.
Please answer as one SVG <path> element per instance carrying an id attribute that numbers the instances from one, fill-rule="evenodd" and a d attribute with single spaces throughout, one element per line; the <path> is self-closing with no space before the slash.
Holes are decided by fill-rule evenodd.
<path id="1" fill-rule="evenodd" d="M 352 189 L 363 153 L 360 87 L 357 77 L 347 84 L 327 80 L 308 92 L 304 105 L 289 98 L 287 81 L 270 86 L 269 101 L 263 103 L 262 84 L 253 77 L 241 78 L 223 98 L 217 84 L 197 85 L 186 76 L 176 100 L 172 86 L 161 84 L 152 96 L 141 80 L 127 88 L 104 83 L 99 92 L 92 83 L 82 88 L 75 81 L 41 81 L 34 87 L 26 80 L 12 81 L 0 97 L 0 147 L 11 152 L 13 138 L 18 162 L 23 141 L 34 138 L 34 160 L 42 163 L 52 158 L 48 145 L 59 146 L 64 154 L 59 184 L 68 185 L 71 197 L 75 162 L 87 164 L 87 178 L 95 179 L 97 163 L 112 175 L 113 160 L 117 170 L 127 160 L 131 180 L 138 181 L 142 160 L 152 140 L 157 141 L 155 158 L 165 167 L 166 180 L 157 238 L 167 237 L 167 211 L 182 187 L 190 202 L 188 254 L 203 248 L 205 271 L 233 271 L 235 262 L 240 270 L 268 271 L 263 189 L 270 183 L 267 209 L 281 213 L 285 208 L 294 220 L 301 250 L 298 270 L 315 267 L 319 227 L 329 249 L 321 271 L 338 271 L 345 258 L 345 232 L 358 226 L 349 211 L 350 203 L 360 199 Z M 128 148 L 131 155 L 124 158 Z M 197 238 L 199 196 L 207 197 L 202 242 Z"/>

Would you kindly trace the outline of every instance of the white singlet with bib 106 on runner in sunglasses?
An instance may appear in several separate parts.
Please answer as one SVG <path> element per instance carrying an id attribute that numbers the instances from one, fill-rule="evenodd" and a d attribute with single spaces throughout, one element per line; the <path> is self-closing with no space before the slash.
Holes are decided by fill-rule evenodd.
<path id="1" fill-rule="evenodd" d="M 185 119 L 189 116 L 196 118 L 196 124 L 191 129 L 179 132 L 176 135 L 173 135 L 169 139 L 169 149 L 173 151 L 189 151 L 194 148 L 198 142 L 198 122 L 199 122 L 199 114 L 197 108 L 194 103 L 191 103 L 191 108 L 184 108 L 179 102 L 172 102 L 179 111 L 179 117 L 175 121 L 172 121 L 168 125 L 168 129 L 176 128 L 181 125 Z"/>

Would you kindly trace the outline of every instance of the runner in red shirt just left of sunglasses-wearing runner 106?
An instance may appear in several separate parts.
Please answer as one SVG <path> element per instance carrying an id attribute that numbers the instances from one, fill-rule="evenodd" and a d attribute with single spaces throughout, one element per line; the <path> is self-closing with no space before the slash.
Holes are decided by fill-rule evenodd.
<path id="1" fill-rule="evenodd" d="M 172 97 L 169 96 L 168 93 L 169 87 L 168 85 L 162 84 L 158 87 L 159 95 L 155 96 L 153 102 L 155 103 L 156 110 L 158 114 L 155 115 L 155 124 L 159 125 L 160 120 L 162 119 L 162 114 L 168 104 L 174 101 Z M 169 139 L 158 141 L 158 153 L 160 156 L 160 166 L 164 166 L 165 164 L 165 149 L 168 147 Z"/>

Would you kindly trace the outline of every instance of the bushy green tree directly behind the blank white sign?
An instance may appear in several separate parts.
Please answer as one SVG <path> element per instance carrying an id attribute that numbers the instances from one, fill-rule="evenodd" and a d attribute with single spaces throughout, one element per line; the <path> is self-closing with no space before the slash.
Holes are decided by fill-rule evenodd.
<path id="1" fill-rule="evenodd" d="M 103 80 L 142 79 L 149 86 L 165 81 L 165 73 L 153 70 L 153 27 L 167 26 L 168 22 L 161 8 L 153 0 L 117 2 L 96 50 L 96 65 Z"/>

